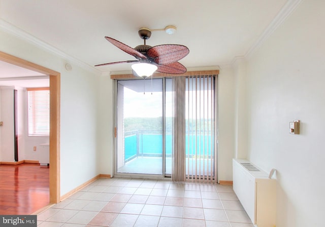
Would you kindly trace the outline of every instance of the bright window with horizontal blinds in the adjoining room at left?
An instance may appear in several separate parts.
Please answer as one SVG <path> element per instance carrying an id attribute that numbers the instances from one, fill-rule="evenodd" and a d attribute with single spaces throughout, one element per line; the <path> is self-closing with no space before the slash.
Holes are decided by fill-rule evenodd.
<path id="1" fill-rule="evenodd" d="M 49 88 L 27 89 L 28 135 L 50 135 L 50 90 Z"/>

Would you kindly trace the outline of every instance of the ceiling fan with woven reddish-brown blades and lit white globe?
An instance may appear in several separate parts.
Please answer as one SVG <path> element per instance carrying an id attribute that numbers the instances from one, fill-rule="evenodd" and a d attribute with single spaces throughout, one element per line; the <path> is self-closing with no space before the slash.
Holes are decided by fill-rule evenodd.
<path id="1" fill-rule="evenodd" d="M 142 78 L 150 77 L 154 71 L 170 74 L 182 74 L 187 71 L 186 67 L 178 62 L 189 53 L 187 47 L 177 44 L 164 44 L 151 47 L 146 45 L 146 40 L 151 36 L 151 30 L 149 28 L 140 28 L 138 33 L 141 39 L 144 40 L 144 45 L 139 45 L 135 48 L 105 36 L 107 41 L 122 51 L 134 56 L 137 60 L 110 62 L 95 66 L 135 63 L 132 65 L 132 69 Z M 146 71 L 147 69 L 149 71 Z"/>

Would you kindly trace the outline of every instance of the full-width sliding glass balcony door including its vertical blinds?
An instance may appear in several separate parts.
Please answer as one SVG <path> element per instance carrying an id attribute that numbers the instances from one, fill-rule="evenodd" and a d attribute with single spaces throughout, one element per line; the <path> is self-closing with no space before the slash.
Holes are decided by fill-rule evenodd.
<path id="1" fill-rule="evenodd" d="M 215 75 L 179 80 L 117 81 L 115 174 L 216 181 Z"/>

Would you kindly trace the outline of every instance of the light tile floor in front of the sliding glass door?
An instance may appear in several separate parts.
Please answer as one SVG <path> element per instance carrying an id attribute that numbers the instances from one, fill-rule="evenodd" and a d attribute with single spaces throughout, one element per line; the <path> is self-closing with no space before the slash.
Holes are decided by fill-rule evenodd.
<path id="1" fill-rule="evenodd" d="M 232 186 L 100 178 L 38 214 L 39 227 L 253 227 Z"/>

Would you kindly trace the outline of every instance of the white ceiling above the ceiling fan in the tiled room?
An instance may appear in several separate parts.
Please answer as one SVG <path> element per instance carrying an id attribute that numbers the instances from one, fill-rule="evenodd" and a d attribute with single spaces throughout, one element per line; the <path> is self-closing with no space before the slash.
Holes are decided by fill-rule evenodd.
<path id="1" fill-rule="evenodd" d="M 288 0 L 289 1 L 289 0 Z M 244 56 L 261 39 L 286 0 L 0 0 L 1 18 L 78 61 L 95 64 L 135 60 L 104 36 L 131 47 L 143 44 L 138 29 L 177 26 L 152 32 L 147 45 L 182 44 L 187 68 L 216 67 Z M 290 2 L 290 1 L 289 1 Z M 131 65 L 98 67 L 131 70 Z"/>

